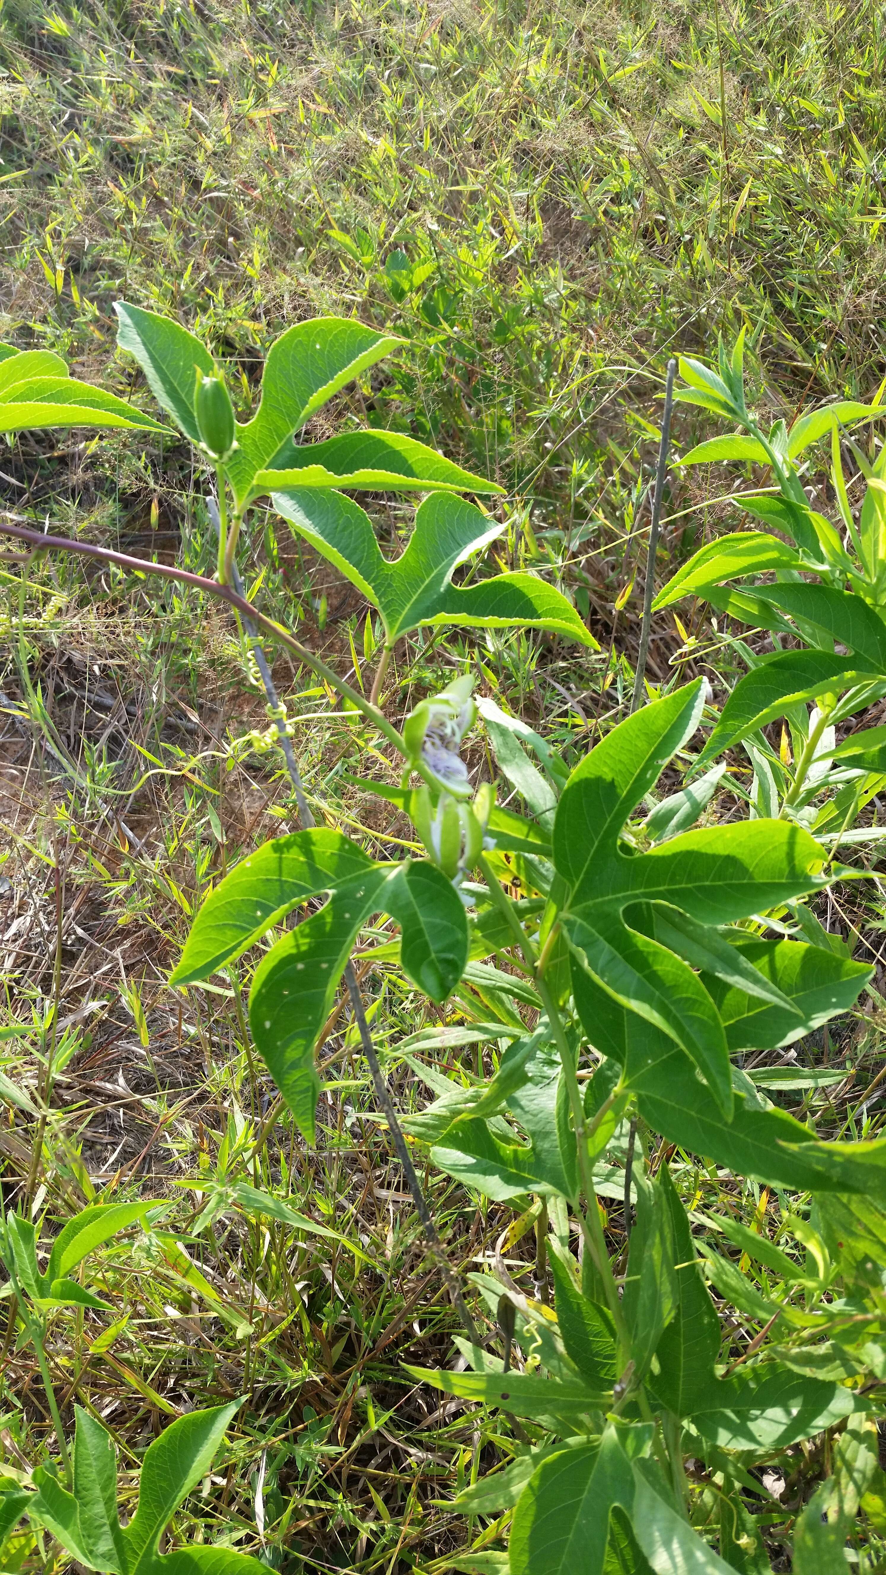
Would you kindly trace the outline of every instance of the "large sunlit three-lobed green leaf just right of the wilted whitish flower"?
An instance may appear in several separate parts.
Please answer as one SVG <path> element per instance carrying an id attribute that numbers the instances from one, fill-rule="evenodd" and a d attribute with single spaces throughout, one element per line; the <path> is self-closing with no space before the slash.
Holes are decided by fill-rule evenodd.
<path id="1" fill-rule="evenodd" d="M 679 1044 L 728 1118 L 732 1069 L 720 1017 L 692 967 L 645 932 L 645 906 L 667 902 L 698 929 L 735 923 L 826 880 L 818 844 L 787 822 L 686 832 L 645 854 L 621 849 L 627 816 L 692 736 L 702 707 L 697 680 L 637 712 L 582 761 L 560 799 L 553 860 L 571 888 L 561 925 L 574 978 L 586 973 L 613 1002 Z M 580 992 L 577 981 L 577 999 Z"/>

